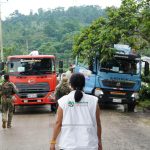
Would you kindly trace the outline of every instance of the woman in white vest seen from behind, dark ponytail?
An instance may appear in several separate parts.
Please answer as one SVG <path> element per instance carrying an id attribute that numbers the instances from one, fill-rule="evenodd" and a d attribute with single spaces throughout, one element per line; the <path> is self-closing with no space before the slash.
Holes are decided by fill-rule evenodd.
<path id="1" fill-rule="evenodd" d="M 59 133 L 58 145 L 61 150 L 102 150 L 98 98 L 83 92 L 83 74 L 73 74 L 70 83 L 73 91 L 58 100 L 50 150 L 55 150 Z"/>

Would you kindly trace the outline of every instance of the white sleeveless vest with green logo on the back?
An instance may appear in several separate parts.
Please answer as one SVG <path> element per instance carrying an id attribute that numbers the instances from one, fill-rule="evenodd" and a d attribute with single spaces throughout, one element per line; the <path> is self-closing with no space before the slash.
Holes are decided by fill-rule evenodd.
<path id="1" fill-rule="evenodd" d="M 96 106 L 98 98 L 83 93 L 80 102 L 75 91 L 58 100 L 63 109 L 59 146 L 64 150 L 98 150 Z"/>

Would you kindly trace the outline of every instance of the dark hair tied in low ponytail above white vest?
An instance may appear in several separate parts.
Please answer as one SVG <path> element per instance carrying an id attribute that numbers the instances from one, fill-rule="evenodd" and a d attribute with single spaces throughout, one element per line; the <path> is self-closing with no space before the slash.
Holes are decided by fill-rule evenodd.
<path id="1" fill-rule="evenodd" d="M 81 73 L 74 73 L 70 78 L 71 87 L 76 90 L 74 98 L 76 102 L 79 102 L 83 97 L 83 87 L 85 86 L 85 77 Z"/>

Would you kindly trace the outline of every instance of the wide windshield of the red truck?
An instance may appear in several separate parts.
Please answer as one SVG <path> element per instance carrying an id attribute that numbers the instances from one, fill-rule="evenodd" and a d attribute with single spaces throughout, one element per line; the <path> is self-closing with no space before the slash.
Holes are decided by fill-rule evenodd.
<path id="1" fill-rule="evenodd" d="M 19 58 L 8 62 L 10 75 L 43 75 L 55 72 L 51 58 Z"/>

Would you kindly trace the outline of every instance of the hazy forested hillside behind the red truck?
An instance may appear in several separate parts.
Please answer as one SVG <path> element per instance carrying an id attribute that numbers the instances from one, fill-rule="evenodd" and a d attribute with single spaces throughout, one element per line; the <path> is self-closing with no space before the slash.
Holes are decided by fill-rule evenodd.
<path id="1" fill-rule="evenodd" d="M 39 50 L 41 54 L 56 54 L 68 58 L 72 53 L 74 35 L 100 16 L 105 10 L 98 6 L 56 8 L 23 15 L 16 10 L 3 21 L 5 57 Z M 67 60 L 69 61 L 69 60 Z"/>

